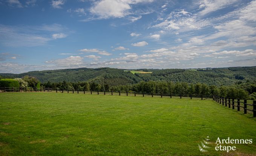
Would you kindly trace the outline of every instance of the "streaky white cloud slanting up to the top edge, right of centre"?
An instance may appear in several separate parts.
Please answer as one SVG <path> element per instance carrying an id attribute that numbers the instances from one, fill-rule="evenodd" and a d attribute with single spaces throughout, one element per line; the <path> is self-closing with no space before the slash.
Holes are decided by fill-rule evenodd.
<path id="1" fill-rule="evenodd" d="M 202 4 L 199 6 L 199 8 L 204 9 L 201 12 L 199 12 L 199 14 L 204 16 L 208 13 L 215 12 L 219 9 L 227 7 L 228 5 L 231 5 L 236 1 L 238 0 L 204 0 Z"/>

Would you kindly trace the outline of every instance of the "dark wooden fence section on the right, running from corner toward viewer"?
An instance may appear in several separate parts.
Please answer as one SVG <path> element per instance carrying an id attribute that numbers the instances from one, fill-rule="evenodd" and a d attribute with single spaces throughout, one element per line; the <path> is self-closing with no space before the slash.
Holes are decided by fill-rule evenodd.
<path id="1" fill-rule="evenodd" d="M 256 101 L 253 101 L 253 104 L 248 104 L 247 99 L 241 100 L 241 99 L 235 99 L 235 98 L 227 98 L 227 97 L 221 97 L 221 96 L 213 96 L 213 101 L 217 102 L 218 104 L 231 108 L 232 110 L 237 111 L 243 111 L 244 114 L 247 114 L 247 111 L 250 111 L 250 113 L 253 113 L 253 117 L 256 117 Z"/>

